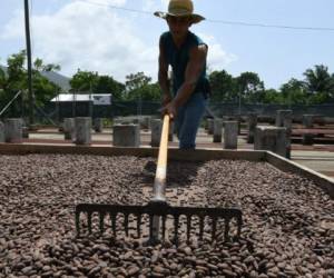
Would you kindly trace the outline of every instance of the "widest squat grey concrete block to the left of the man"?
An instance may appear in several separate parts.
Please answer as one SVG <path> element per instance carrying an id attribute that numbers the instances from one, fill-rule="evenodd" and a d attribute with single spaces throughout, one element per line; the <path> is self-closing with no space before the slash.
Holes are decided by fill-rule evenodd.
<path id="1" fill-rule="evenodd" d="M 117 147 L 139 147 L 139 125 L 117 125 L 112 128 L 112 143 Z"/>

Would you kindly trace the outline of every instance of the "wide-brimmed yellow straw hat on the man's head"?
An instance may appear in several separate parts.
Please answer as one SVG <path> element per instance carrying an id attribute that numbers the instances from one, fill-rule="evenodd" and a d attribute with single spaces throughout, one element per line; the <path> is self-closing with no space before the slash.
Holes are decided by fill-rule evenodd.
<path id="1" fill-rule="evenodd" d="M 194 13 L 194 4 L 191 0 L 170 0 L 168 4 L 168 12 L 156 11 L 156 17 L 166 19 L 167 16 L 171 17 L 190 17 L 193 23 L 198 23 L 205 18 L 200 14 Z"/>

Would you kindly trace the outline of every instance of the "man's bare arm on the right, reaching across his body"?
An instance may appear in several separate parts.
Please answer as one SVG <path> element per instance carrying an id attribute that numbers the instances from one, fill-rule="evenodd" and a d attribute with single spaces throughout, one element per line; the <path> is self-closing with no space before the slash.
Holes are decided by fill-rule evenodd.
<path id="1" fill-rule="evenodd" d="M 206 56 L 207 46 L 205 44 L 191 49 L 186 68 L 185 82 L 178 89 L 176 97 L 166 107 L 167 112 L 171 115 L 171 117 L 176 115 L 177 108 L 184 105 L 191 96 L 203 68 L 205 67 Z"/>

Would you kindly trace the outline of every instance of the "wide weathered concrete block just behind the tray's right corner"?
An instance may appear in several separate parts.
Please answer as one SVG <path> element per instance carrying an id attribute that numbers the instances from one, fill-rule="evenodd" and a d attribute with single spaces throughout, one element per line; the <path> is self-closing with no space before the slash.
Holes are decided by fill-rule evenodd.
<path id="1" fill-rule="evenodd" d="M 286 128 L 256 127 L 254 138 L 255 150 L 269 150 L 282 157 L 287 157 Z"/>

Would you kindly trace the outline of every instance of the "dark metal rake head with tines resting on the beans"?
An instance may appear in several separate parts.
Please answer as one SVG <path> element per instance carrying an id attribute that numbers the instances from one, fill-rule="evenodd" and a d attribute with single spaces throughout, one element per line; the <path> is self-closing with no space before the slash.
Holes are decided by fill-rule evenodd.
<path id="1" fill-rule="evenodd" d="M 149 238 L 154 235 L 154 218 L 159 218 L 161 222 L 161 239 L 166 239 L 166 221 L 167 217 L 173 217 L 174 242 L 178 242 L 178 229 L 180 218 L 186 217 L 187 241 L 190 238 L 191 218 L 199 219 L 199 239 L 203 240 L 205 219 L 212 219 L 212 240 L 216 239 L 217 221 L 224 220 L 224 238 L 229 239 L 230 221 L 236 220 L 237 237 L 240 236 L 243 216 L 238 208 L 197 208 L 197 207 L 171 207 L 165 201 L 150 201 L 146 206 L 120 206 L 120 205 L 98 205 L 98 203 L 80 203 L 76 207 L 76 228 L 78 236 L 80 235 L 80 215 L 87 215 L 88 232 L 92 232 L 92 215 L 99 216 L 99 231 L 105 232 L 105 218 L 109 216 L 111 221 L 111 230 L 116 236 L 117 216 L 124 216 L 125 234 L 129 236 L 129 216 L 135 216 L 137 221 L 137 235 L 141 237 L 143 218 L 145 215 L 149 217 Z M 158 231 L 159 232 L 159 231 Z"/>

